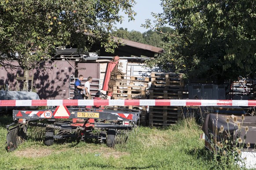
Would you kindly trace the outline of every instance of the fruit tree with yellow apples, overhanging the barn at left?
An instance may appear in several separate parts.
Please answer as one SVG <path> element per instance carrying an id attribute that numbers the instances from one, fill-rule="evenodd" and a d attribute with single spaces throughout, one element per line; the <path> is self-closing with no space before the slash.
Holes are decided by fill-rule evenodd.
<path id="1" fill-rule="evenodd" d="M 107 51 L 116 46 L 110 38 L 119 11 L 130 19 L 134 0 L 1 0 L 0 64 L 17 60 L 24 71 L 47 60 L 56 47 L 76 45 L 88 50 L 98 40 Z"/>

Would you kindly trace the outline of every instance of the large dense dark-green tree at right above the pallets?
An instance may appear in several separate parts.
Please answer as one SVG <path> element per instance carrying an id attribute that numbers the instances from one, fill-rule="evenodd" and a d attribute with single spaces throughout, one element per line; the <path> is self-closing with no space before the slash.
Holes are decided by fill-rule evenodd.
<path id="1" fill-rule="evenodd" d="M 207 80 L 255 76 L 254 0 L 162 0 L 161 6 L 164 12 L 153 14 L 155 28 L 175 30 L 165 34 L 166 53 L 151 65 Z"/>

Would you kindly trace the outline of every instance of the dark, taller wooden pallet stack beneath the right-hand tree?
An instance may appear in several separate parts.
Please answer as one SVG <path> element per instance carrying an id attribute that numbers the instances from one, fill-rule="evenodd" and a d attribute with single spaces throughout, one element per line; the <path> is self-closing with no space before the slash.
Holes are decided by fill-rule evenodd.
<path id="1" fill-rule="evenodd" d="M 183 99 L 183 74 L 152 72 L 150 99 Z M 182 115 L 180 106 L 150 106 L 149 125 L 169 126 Z"/>

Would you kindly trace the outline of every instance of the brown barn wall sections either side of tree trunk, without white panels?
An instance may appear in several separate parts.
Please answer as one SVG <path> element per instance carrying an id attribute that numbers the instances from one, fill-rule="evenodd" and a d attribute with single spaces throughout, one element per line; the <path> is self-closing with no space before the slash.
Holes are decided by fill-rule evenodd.
<path id="1" fill-rule="evenodd" d="M 18 65 L 17 62 L 12 64 Z M 76 67 L 78 68 L 76 70 Z M 79 69 L 84 67 L 85 69 Z M 69 98 L 69 78 L 84 75 L 84 82 L 88 76 L 99 78 L 98 63 L 79 63 L 75 61 L 45 61 L 38 67 L 30 71 L 30 76 L 34 75 L 33 88 L 40 99 L 68 99 Z M 0 68 L 0 85 L 8 84 L 9 90 L 16 91 L 17 74 L 23 76 L 23 70 L 5 70 Z M 19 83 L 22 84 L 22 83 Z"/>

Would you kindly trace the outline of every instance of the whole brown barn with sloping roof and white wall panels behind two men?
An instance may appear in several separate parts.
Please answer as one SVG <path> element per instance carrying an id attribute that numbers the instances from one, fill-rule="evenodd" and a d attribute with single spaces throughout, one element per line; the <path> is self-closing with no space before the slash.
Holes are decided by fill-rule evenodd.
<path id="1" fill-rule="evenodd" d="M 115 53 L 106 53 L 99 45 L 93 46 L 93 50 L 100 50 L 100 55 L 94 53 L 77 53 L 77 49 L 58 49 L 51 60 L 41 61 L 40 64 L 29 73 L 27 85 L 30 90 L 37 92 L 40 99 L 69 99 L 75 78 L 84 75 L 84 83 L 91 76 L 93 82 L 91 88 L 93 94 L 102 88 L 106 64 L 113 56 L 119 56 L 121 60 L 127 60 L 126 74 L 128 76 L 147 76 L 147 69 L 142 67 L 144 61 L 150 57 L 157 57 L 163 53 L 163 49 L 154 46 L 136 43 L 127 39 L 117 39 L 122 43 Z M 12 64 L 17 64 L 13 62 Z M 9 90 L 21 90 L 23 85 L 22 70 L 5 70 L 0 68 L 0 85 L 2 89 L 8 85 Z"/>

